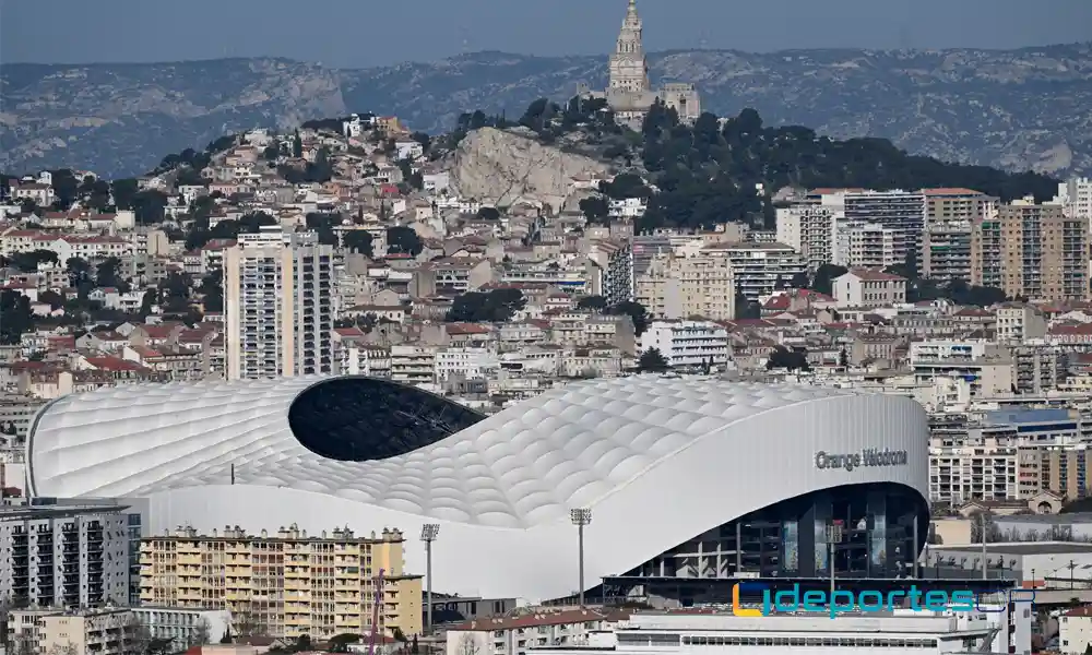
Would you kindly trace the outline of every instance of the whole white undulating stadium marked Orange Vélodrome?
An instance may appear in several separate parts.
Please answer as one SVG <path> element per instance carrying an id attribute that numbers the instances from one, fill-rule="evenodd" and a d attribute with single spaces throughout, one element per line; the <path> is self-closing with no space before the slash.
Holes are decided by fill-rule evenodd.
<path id="1" fill-rule="evenodd" d="M 58 398 L 32 425 L 27 477 L 39 497 L 145 498 L 156 534 L 397 527 L 417 572 L 416 537 L 439 523 L 434 588 L 547 599 L 578 586 L 573 508 L 592 512 L 589 586 L 740 565 L 819 575 L 814 535 L 843 515 L 868 526 L 860 553 L 847 547 L 836 561 L 889 567 L 889 550 L 906 558 L 924 541 L 909 526 L 927 515 L 926 448 L 917 403 L 839 389 L 639 376 L 486 417 L 388 380 L 305 377 Z M 816 493 L 826 500 L 799 500 Z M 775 545 L 751 552 L 745 529 Z M 717 552 L 707 564 L 710 535 L 714 547 L 736 539 L 748 560 Z M 679 547 L 696 539 L 687 560 Z"/>

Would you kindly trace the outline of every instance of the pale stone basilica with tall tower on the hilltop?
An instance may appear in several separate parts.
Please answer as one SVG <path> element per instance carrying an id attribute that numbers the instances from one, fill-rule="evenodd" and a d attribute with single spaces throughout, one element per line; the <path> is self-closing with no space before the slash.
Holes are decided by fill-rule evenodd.
<path id="1" fill-rule="evenodd" d="M 629 0 L 626 20 L 618 32 L 615 51 L 610 55 L 610 83 L 606 91 L 590 91 L 581 85 L 579 95 L 586 98 L 606 98 L 619 123 L 633 129 L 641 128 L 641 121 L 649 108 L 658 99 L 675 109 L 684 122 L 693 122 L 701 114 L 701 98 L 693 84 L 664 84 L 663 88 L 652 88 L 649 82 L 649 62 L 641 45 L 641 16 L 637 13 L 637 0 Z"/>

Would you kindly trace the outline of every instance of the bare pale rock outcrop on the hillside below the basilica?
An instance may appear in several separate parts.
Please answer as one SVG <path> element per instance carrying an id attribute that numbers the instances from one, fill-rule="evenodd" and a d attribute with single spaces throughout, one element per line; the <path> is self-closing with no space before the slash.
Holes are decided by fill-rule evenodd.
<path id="1" fill-rule="evenodd" d="M 466 135 L 452 155 L 451 184 L 462 198 L 498 206 L 541 202 L 558 211 L 578 176 L 602 175 L 609 166 L 543 145 L 515 130 L 483 128 Z"/>

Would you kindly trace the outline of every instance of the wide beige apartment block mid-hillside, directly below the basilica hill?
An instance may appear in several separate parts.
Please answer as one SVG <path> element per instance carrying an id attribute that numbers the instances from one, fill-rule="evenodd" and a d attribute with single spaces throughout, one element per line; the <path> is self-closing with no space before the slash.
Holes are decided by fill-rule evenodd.
<path id="1" fill-rule="evenodd" d="M 634 282 L 636 299 L 658 319 L 735 318 L 736 277 L 724 252 L 655 255 Z"/>

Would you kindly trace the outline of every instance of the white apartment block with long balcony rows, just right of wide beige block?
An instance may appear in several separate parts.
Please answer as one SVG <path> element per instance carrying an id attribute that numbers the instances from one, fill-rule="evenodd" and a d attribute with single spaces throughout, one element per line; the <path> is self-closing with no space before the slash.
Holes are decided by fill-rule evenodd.
<path id="1" fill-rule="evenodd" d="M 803 258 L 791 246 L 778 242 L 711 243 L 702 248 L 700 253 L 726 259 L 736 293 L 755 302 L 785 287 L 793 277 L 806 270 Z M 710 294 L 713 293 L 715 291 L 711 289 Z M 731 296 L 734 297 L 734 294 Z"/>

